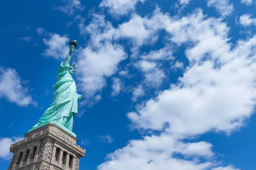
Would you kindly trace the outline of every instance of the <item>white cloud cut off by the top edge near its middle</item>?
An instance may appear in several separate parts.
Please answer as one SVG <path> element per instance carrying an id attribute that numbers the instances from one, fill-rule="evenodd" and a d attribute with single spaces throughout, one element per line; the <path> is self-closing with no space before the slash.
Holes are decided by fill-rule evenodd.
<path id="1" fill-rule="evenodd" d="M 114 17 L 127 15 L 135 10 L 135 6 L 138 2 L 144 2 L 145 0 L 102 0 L 100 7 L 108 8 L 109 13 Z"/>

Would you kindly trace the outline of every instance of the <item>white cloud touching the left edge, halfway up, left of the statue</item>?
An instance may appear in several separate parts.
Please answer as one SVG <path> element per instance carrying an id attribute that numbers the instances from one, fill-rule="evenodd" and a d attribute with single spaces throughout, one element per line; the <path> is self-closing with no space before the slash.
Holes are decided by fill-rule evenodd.
<path id="1" fill-rule="evenodd" d="M 23 86 L 19 74 L 13 68 L 0 67 L 0 98 L 5 98 L 21 107 L 30 104 L 37 106 L 37 102 L 33 101 L 28 88 Z"/>

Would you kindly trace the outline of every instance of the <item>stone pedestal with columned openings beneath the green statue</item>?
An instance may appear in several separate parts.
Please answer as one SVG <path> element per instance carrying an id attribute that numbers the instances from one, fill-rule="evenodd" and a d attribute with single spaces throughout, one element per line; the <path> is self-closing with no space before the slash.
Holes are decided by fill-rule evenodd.
<path id="1" fill-rule="evenodd" d="M 8 170 L 79 170 L 85 150 L 77 138 L 55 124 L 47 124 L 25 134 L 12 144 Z"/>

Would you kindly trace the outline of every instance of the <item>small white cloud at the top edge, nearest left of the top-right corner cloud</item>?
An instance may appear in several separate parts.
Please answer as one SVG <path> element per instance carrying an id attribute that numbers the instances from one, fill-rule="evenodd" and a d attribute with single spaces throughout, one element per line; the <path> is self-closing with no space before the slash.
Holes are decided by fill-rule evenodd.
<path id="1" fill-rule="evenodd" d="M 233 11 L 233 3 L 229 3 L 229 0 L 207 0 L 208 7 L 214 7 L 223 17 L 229 16 Z"/>

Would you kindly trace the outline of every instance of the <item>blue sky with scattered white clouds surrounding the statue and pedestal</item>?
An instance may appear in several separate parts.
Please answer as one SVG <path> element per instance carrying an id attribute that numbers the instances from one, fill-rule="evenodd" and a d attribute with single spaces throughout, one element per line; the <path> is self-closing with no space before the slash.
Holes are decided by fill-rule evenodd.
<path id="1" fill-rule="evenodd" d="M 255 0 L 3 1 L 0 164 L 70 40 L 81 170 L 254 170 Z"/>

